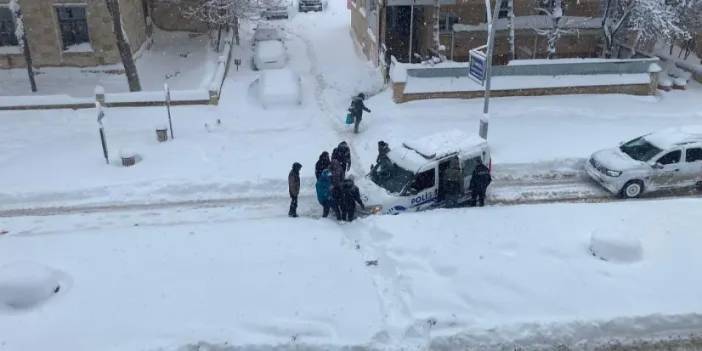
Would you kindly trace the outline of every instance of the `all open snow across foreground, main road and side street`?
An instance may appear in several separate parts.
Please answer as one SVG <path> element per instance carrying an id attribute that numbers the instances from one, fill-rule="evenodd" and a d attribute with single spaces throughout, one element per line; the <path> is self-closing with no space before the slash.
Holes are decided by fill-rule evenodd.
<path id="1" fill-rule="evenodd" d="M 163 107 L 105 110 L 109 165 L 95 111 L 0 112 L 0 350 L 590 350 L 699 334 L 699 198 L 320 219 L 312 170 L 322 151 L 349 141 L 363 174 L 378 140 L 476 133 L 482 111 L 479 99 L 392 103 L 349 17 L 330 3 L 277 22 L 301 76 L 299 106 L 260 105 L 247 24 L 220 104 L 172 108 L 175 140 L 156 141 Z M 343 119 L 358 92 L 373 112 L 354 135 Z M 702 124 L 700 94 L 694 83 L 659 97 L 493 99 L 491 200 L 534 184 L 546 197 L 602 196 L 568 183 L 584 159 Z M 140 162 L 121 167 L 124 149 Z M 26 216 L 75 205 L 94 213 Z M 7 211 L 46 206 L 59 208 Z M 7 291 L 36 298 L 18 304 Z"/>

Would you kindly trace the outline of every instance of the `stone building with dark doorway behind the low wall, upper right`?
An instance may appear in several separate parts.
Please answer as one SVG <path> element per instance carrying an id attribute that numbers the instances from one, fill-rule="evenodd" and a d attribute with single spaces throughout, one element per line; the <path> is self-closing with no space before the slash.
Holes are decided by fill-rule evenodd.
<path id="1" fill-rule="evenodd" d="M 417 55 L 426 57 L 432 48 L 434 0 L 348 0 L 352 32 L 366 56 L 379 62 L 385 49 L 400 62 Z M 514 0 L 515 57 L 546 58 L 550 18 L 537 10 L 537 0 Z M 492 1 L 494 4 L 495 1 Z M 505 4 L 507 2 L 505 1 Z M 600 0 L 563 0 L 563 30 L 556 57 L 593 57 L 601 45 Z M 412 6 L 412 4 L 414 4 Z M 444 54 L 455 61 L 468 60 L 468 51 L 487 42 L 484 0 L 440 0 L 440 40 Z M 503 7 L 496 23 L 495 62 L 509 59 L 507 30 L 509 9 Z M 411 42 L 411 43 L 410 43 Z M 410 47 L 411 52 L 410 54 Z"/>

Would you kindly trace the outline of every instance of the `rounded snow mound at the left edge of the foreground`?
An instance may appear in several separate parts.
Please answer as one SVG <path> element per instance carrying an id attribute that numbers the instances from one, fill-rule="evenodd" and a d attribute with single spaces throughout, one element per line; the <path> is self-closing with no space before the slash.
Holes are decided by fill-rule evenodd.
<path id="1" fill-rule="evenodd" d="M 41 264 L 17 262 L 0 267 L 0 310 L 24 310 L 61 289 L 58 272 Z"/>

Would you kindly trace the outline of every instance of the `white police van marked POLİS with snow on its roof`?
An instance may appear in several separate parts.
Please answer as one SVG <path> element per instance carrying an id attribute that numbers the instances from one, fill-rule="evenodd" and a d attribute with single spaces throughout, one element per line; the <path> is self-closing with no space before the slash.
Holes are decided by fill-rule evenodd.
<path id="1" fill-rule="evenodd" d="M 467 202 L 473 170 L 479 160 L 490 167 L 490 150 L 485 139 L 451 131 L 390 145 L 387 158 L 359 181 L 366 209 L 398 214 L 446 206 L 445 173 L 452 160 L 463 175 L 458 203 Z"/>

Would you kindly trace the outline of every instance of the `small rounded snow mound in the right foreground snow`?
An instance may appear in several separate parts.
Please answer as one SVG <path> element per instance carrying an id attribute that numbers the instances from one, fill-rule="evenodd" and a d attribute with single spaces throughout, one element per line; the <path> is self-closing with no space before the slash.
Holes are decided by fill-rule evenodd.
<path id="1" fill-rule="evenodd" d="M 641 241 L 626 231 L 595 230 L 590 236 L 590 252 L 604 261 L 621 263 L 643 257 Z"/>

